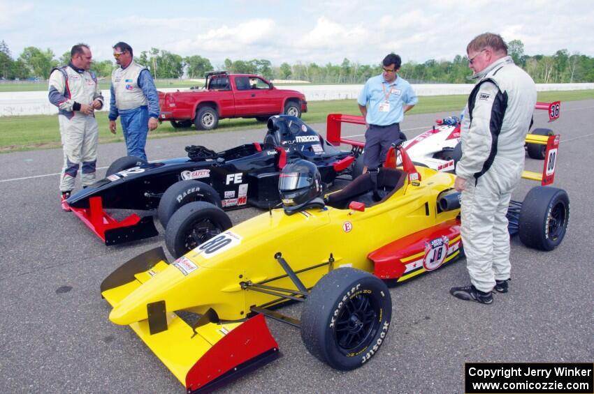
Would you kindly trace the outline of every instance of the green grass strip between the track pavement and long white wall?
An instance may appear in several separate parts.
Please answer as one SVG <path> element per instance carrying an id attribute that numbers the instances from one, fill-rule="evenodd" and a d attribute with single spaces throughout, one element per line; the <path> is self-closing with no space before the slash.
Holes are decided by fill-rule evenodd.
<path id="1" fill-rule="evenodd" d="M 425 96 L 409 114 L 428 114 L 432 112 L 452 112 L 459 114 L 468 96 Z M 572 101 L 594 99 L 594 90 L 584 91 L 546 91 L 538 93 L 538 100 Z M 303 114 L 307 123 L 324 123 L 326 116 L 332 113 L 359 114 L 356 100 L 311 101 L 307 105 L 309 112 Z M 563 109 L 561 110 L 563 112 Z M 96 113 L 99 122 L 99 142 L 123 141 L 122 128 L 118 122 L 118 133 L 112 135 L 108 130 L 107 112 Z M 222 119 L 219 128 L 211 132 L 225 132 L 247 128 L 265 128 L 255 119 Z M 203 131 L 202 131 L 203 132 Z M 194 128 L 174 129 L 168 122 L 161 123 L 157 130 L 150 132 L 149 138 L 191 135 L 198 132 Z M 48 149 L 60 146 L 60 135 L 56 115 L 2 116 L 0 117 L 0 153 Z"/>

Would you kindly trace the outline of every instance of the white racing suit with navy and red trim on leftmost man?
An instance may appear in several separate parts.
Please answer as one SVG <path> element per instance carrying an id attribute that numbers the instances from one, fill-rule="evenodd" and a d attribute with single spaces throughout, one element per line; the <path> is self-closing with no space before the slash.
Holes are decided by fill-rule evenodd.
<path id="1" fill-rule="evenodd" d="M 79 111 L 81 104 L 92 105 L 94 100 L 99 100 L 103 107 L 103 96 L 95 74 L 77 68 L 72 63 L 54 68 L 49 85 L 50 103 L 59 108 L 58 121 L 64 149 L 64 167 L 59 187 L 61 192 L 70 192 L 74 188 L 80 163 L 82 185 L 87 186 L 95 181 L 99 126 L 94 114 L 87 115 Z"/>

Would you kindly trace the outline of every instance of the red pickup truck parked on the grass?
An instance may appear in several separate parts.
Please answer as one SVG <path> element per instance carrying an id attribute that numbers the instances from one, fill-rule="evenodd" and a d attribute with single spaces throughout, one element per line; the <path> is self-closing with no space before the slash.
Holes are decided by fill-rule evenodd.
<path id="1" fill-rule="evenodd" d="M 255 118 L 287 114 L 300 117 L 307 112 L 303 93 L 276 89 L 263 77 L 251 74 L 208 73 L 203 89 L 159 92 L 161 121 L 171 121 L 175 128 L 196 130 L 217 128 L 219 119 Z"/>

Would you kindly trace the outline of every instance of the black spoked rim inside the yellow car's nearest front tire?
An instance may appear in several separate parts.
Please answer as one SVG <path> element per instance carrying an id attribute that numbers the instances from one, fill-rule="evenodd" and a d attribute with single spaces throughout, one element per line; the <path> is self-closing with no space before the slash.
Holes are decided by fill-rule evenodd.
<path id="1" fill-rule="evenodd" d="M 377 333 L 379 305 L 366 294 L 347 298 L 338 312 L 334 335 L 338 348 L 349 354 L 365 347 Z"/>

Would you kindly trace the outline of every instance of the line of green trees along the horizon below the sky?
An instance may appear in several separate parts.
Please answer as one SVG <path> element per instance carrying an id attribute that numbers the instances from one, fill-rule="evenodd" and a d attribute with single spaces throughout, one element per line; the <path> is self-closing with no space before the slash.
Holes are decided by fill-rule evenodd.
<path id="1" fill-rule="evenodd" d="M 508 53 L 537 83 L 594 82 L 594 57 L 567 50 L 558 50 L 548 56 L 524 53 L 521 40 L 509 42 Z M 156 78 L 201 78 L 215 70 L 209 59 L 194 55 L 180 56 L 166 50 L 151 48 L 140 52 L 134 60 L 150 69 Z M 48 79 L 53 67 L 67 64 L 70 52 L 55 56 L 49 48 L 26 47 L 13 59 L 8 45 L 0 41 L 0 77 L 3 79 Z M 94 61 L 92 70 L 99 77 L 109 77 L 115 63 L 110 60 Z M 382 73 L 382 65 L 368 65 L 344 59 L 340 65 L 326 63 L 289 64 L 273 66 L 266 59 L 225 59 L 217 69 L 229 73 L 259 74 L 267 79 L 299 79 L 317 84 L 361 84 L 369 77 Z M 452 61 L 429 59 L 424 63 L 409 61 L 400 68 L 400 76 L 412 83 L 469 83 L 468 57 L 456 55 Z"/>

